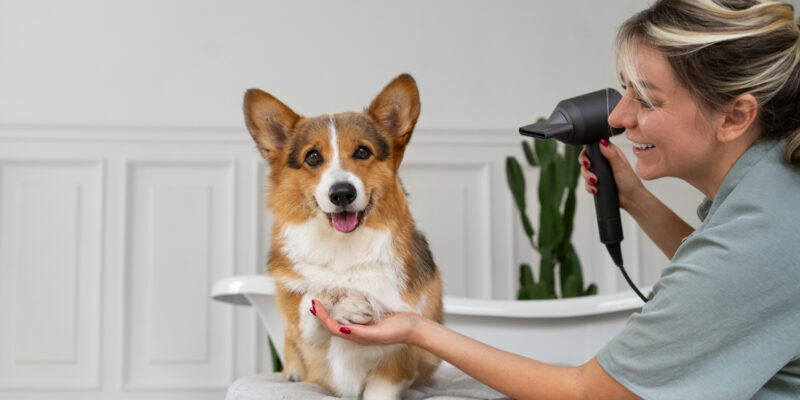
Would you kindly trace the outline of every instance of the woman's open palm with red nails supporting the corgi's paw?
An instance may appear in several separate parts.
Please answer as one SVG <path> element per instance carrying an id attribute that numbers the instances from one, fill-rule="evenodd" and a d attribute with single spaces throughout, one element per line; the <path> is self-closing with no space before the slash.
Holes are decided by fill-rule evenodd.
<path id="1" fill-rule="evenodd" d="M 414 328 L 422 319 L 419 314 L 402 312 L 386 316 L 377 324 L 345 326 L 328 315 L 328 311 L 321 302 L 312 300 L 311 304 L 313 305 L 311 312 L 317 316 L 331 335 L 364 346 L 395 343 L 414 344 Z"/>

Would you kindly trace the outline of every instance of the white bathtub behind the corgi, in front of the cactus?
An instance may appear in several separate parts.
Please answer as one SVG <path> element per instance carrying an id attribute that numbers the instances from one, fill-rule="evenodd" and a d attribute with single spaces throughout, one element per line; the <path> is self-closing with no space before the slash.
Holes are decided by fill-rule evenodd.
<path id="1" fill-rule="evenodd" d="M 649 288 L 643 288 L 645 293 Z M 252 305 L 283 356 L 283 326 L 275 286 L 266 275 L 217 281 L 211 295 L 222 302 Z M 557 365 L 591 359 L 642 307 L 633 292 L 562 300 L 482 300 L 445 297 L 445 325 L 494 347 Z"/>

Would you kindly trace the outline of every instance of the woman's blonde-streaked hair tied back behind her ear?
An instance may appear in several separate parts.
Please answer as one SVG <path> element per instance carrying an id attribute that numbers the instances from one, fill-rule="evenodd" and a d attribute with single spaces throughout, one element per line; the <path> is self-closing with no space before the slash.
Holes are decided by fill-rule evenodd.
<path id="1" fill-rule="evenodd" d="M 800 161 L 800 26 L 775 0 L 659 0 L 617 33 L 617 70 L 645 101 L 633 67 L 637 46 L 661 52 L 698 104 L 711 110 L 752 94 L 761 138 L 788 138 Z"/>

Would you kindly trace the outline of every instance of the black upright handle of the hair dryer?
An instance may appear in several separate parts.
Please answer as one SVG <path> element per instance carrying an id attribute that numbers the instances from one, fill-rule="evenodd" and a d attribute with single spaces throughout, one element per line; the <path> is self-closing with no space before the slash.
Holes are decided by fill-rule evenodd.
<path id="1" fill-rule="evenodd" d="M 622 220 L 619 216 L 619 197 L 614 171 L 608 159 L 600 152 L 600 142 L 586 145 L 586 155 L 591 162 L 591 171 L 597 175 L 597 194 L 594 208 L 597 212 L 597 228 L 600 241 L 606 246 L 622 242 Z"/>

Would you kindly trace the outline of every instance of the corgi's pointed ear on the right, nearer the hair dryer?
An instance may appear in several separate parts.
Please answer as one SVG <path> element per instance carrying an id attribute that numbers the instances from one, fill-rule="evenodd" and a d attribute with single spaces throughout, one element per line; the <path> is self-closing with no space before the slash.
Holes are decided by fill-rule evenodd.
<path id="1" fill-rule="evenodd" d="M 383 88 L 367 112 L 406 145 L 417 123 L 419 107 L 417 83 L 411 75 L 402 74 Z"/>

